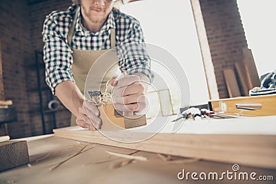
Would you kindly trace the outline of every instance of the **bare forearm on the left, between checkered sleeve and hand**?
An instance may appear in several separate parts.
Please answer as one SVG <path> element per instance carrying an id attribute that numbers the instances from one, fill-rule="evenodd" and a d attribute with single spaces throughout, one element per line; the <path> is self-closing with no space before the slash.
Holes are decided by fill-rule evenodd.
<path id="1" fill-rule="evenodd" d="M 55 94 L 63 105 L 77 116 L 79 107 L 83 104 L 84 96 L 73 81 L 63 81 L 55 88 Z"/>

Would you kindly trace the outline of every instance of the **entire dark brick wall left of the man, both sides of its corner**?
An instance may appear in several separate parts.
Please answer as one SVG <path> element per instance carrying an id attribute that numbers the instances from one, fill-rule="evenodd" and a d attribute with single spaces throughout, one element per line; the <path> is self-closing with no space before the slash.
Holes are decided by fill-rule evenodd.
<path id="1" fill-rule="evenodd" d="M 11 138 L 43 134 L 34 51 L 43 48 L 41 30 L 46 14 L 52 10 L 66 10 L 70 4 L 70 0 L 42 2 L 0 0 L 4 95 L 5 99 L 12 100 L 17 108 L 17 121 L 8 123 Z M 41 65 L 40 72 L 41 83 L 43 87 L 46 87 L 43 65 Z M 43 90 L 45 109 L 47 109 L 49 100 L 49 90 Z M 55 115 L 57 127 L 69 125 L 68 110 L 56 112 Z M 46 133 L 52 132 L 52 126 L 52 114 L 48 113 L 46 114 Z M 3 126 L 0 132 L 3 132 Z"/>

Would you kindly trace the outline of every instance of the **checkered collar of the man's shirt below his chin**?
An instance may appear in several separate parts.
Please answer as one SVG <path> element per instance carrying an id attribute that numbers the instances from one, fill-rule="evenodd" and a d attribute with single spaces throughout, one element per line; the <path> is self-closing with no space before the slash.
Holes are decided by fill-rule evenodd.
<path id="1" fill-rule="evenodd" d="M 108 19 L 107 19 L 106 23 L 103 24 L 103 27 L 101 27 L 101 30 L 99 30 L 99 32 L 96 32 L 96 33 L 90 32 L 86 28 L 83 27 L 83 25 L 81 23 L 81 12 L 79 11 L 79 14 L 77 16 L 76 32 L 80 32 L 81 35 L 83 35 L 83 36 L 98 35 L 98 34 L 108 31 L 110 28 L 116 28 L 115 17 L 114 17 L 113 11 L 111 11 L 110 14 L 108 15 Z"/>

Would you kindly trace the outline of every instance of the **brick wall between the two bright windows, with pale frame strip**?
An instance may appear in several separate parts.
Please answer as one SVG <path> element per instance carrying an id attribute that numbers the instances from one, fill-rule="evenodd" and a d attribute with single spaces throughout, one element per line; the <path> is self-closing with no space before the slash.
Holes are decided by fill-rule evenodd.
<path id="1" fill-rule="evenodd" d="M 243 48 L 247 48 L 237 1 L 191 0 L 191 2 L 195 20 L 199 20 L 198 23 L 201 23 L 199 11 L 203 19 L 201 25 L 197 25 L 197 31 L 199 42 L 201 42 L 201 51 L 207 50 L 207 52 L 201 52 L 201 54 L 203 55 L 208 85 L 209 88 L 210 86 L 212 88 L 209 89 L 209 92 L 210 90 L 213 90 L 213 94 L 215 90 L 218 92 L 218 95 L 210 95 L 210 98 L 227 98 L 229 96 L 223 70 L 226 68 L 234 69 L 234 63 L 241 62 L 244 58 Z M 202 24 L 204 24 L 204 31 L 207 36 L 206 41 L 204 37 L 200 37 Z M 208 54 L 210 54 L 210 57 L 208 57 Z M 215 77 L 210 73 L 212 70 Z"/>

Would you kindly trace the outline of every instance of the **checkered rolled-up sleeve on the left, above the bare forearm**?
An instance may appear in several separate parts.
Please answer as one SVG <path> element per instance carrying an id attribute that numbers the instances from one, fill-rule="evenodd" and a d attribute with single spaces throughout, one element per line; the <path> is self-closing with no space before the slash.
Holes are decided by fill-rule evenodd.
<path id="1" fill-rule="evenodd" d="M 48 15 L 43 25 L 43 61 L 46 83 L 55 94 L 55 87 L 62 81 L 74 81 L 72 76 L 72 49 L 57 27 L 57 22 Z"/>

